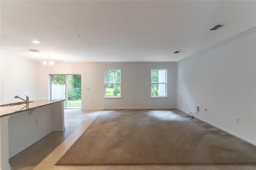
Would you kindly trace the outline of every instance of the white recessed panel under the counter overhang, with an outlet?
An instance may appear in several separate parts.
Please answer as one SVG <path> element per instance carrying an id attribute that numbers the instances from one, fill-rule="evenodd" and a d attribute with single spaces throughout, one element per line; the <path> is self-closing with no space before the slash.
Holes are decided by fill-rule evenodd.
<path id="1" fill-rule="evenodd" d="M 8 119 L 9 158 L 54 130 L 52 107 L 47 105 L 10 115 Z"/>

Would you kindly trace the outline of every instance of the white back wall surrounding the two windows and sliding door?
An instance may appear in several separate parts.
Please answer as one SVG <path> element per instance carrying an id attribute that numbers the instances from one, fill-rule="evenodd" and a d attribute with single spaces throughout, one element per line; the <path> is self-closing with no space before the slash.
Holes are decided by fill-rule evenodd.
<path id="1" fill-rule="evenodd" d="M 104 98 L 105 69 L 121 69 L 122 98 Z M 151 69 L 167 69 L 167 98 L 150 97 Z M 81 74 L 82 109 L 176 108 L 176 62 L 38 64 L 39 99 L 48 99 L 49 74 Z"/>

